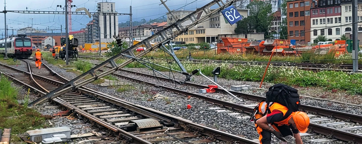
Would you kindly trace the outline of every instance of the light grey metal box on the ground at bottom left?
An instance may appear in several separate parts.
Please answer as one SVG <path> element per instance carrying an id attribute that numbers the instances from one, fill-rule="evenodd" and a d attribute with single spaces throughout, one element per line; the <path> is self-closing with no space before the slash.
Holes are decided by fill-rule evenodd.
<path id="1" fill-rule="evenodd" d="M 43 139 L 52 138 L 53 135 L 56 134 L 65 134 L 67 139 L 70 139 L 70 128 L 68 127 L 53 127 L 53 128 L 44 128 L 38 130 L 26 131 L 30 136 L 30 140 L 39 143 Z"/>

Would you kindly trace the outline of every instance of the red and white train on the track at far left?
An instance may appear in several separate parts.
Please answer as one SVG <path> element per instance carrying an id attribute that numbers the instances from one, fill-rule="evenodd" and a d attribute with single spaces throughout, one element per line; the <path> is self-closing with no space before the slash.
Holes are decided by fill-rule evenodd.
<path id="1" fill-rule="evenodd" d="M 31 38 L 26 35 L 17 35 L 6 41 L 8 57 L 28 58 L 33 53 Z M 0 39 L 0 53 L 5 55 L 5 39 Z"/>

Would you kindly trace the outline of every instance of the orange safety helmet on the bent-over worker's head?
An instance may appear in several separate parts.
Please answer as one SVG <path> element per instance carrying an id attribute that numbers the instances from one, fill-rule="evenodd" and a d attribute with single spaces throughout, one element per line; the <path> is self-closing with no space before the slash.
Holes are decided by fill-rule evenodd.
<path id="1" fill-rule="evenodd" d="M 302 133 L 307 132 L 309 126 L 308 115 L 304 112 L 295 112 L 292 117 L 296 128 Z"/>

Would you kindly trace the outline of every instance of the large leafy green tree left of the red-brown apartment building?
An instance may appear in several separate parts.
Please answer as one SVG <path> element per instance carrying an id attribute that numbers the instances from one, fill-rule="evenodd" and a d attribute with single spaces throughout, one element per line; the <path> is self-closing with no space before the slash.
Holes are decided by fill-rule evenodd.
<path id="1" fill-rule="evenodd" d="M 247 6 L 250 9 L 249 16 L 237 22 L 236 33 L 264 32 L 268 34 L 270 23 L 273 20 L 271 4 L 262 0 L 253 0 Z"/>

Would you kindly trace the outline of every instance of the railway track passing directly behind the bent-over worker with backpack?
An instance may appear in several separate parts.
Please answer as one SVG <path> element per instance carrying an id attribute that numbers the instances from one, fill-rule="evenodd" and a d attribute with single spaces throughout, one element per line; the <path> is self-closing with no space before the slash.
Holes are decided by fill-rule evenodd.
<path id="1" fill-rule="evenodd" d="M 241 93 L 230 90 L 231 93 L 233 93 L 236 96 L 239 96 L 240 98 L 243 98 L 245 102 L 239 102 L 239 103 L 233 103 L 233 102 L 227 102 L 224 100 L 220 100 L 217 97 L 220 95 L 225 95 L 226 93 L 224 90 L 217 88 L 216 93 L 206 93 L 201 94 L 198 93 L 198 89 L 200 88 L 208 88 L 205 85 L 200 84 L 194 84 L 190 82 L 186 82 L 185 85 L 178 86 L 178 88 L 173 88 L 172 83 L 169 82 L 169 79 L 164 77 L 157 77 L 150 74 L 144 74 L 139 73 L 135 71 L 125 70 L 121 69 L 122 74 L 113 73 L 112 75 L 117 76 L 119 78 L 123 78 L 126 80 L 131 80 L 138 83 L 146 83 L 155 87 L 164 88 L 165 90 L 181 93 L 185 96 L 194 96 L 199 99 L 206 100 L 208 102 L 212 102 L 216 105 L 220 105 L 222 107 L 231 108 L 233 110 L 241 112 L 240 118 L 245 119 L 245 121 L 249 121 L 250 116 L 242 115 L 242 113 L 250 114 L 252 113 L 253 108 L 256 106 L 257 101 L 264 100 L 265 97 L 263 96 L 257 96 L 257 95 L 251 95 L 247 93 Z M 129 73 L 132 76 L 130 76 Z M 157 79 L 158 80 L 157 80 Z M 230 96 L 231 97 L 231 96 Z M 361 123 L 362 122 L 362 115 L 358 114 L 351 114 L 346 112 L 340 112 L 336 110 L 331 109 L 325 109 L 325 108 L 319 108 L 316 106 L 311 105 L 304 105 L 302 104 L 300 106 L 301 110 L 306 111 L 309 113 L 308 116 L 311 118 L 311 124 L 309 127 L 309 133 L 311 134 L 322 134 L 322 135 L 332 135 L 333 138 L 344 140 L 344 141 L 354 141 L 356 143 L 362 143 L 362 134 L 354 134 L 352 132 L 349 132 L 351 130 L 359 130 L 362 129 L 361 126 L 354 126 L 354 127 L 348 127 L 343 129 L 336 129 L 335 127 L 338 125 L 345 125 L 346 123 Z M 235 115 L 236 117 L 238 115 Z M 339 122 L 331 122 L 338 119 Z M 323 123 L 325 121 L 326 123 Z M 322 123 L 322 124 L 318 124 Z M 333 141 L 333 140 L 326 140 L 326 141 Z"/>

